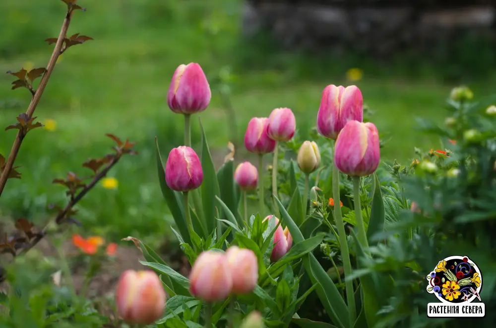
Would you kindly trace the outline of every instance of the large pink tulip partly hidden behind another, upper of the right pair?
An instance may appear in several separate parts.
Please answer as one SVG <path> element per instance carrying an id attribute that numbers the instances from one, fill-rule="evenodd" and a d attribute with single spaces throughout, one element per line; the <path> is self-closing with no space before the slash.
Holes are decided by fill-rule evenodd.
<path id="1" fill-rule="evenodd" d="M 325 87 L 317 113 L 318 133 L 336 140 L 348 121 L 363 121 L 363 103 L 362 92 L 356 86 Z"/>

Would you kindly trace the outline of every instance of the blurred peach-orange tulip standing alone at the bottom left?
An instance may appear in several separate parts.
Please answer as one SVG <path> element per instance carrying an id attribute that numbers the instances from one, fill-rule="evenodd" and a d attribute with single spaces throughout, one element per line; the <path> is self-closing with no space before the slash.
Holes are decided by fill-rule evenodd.
<path id="1" fill-rule="evenodd" d="M 162 317 L 165 308 L 162 281 L 153 271 L 127 270 L 117 285 L 116 304 L 127 324 L 153 324 Z"/>

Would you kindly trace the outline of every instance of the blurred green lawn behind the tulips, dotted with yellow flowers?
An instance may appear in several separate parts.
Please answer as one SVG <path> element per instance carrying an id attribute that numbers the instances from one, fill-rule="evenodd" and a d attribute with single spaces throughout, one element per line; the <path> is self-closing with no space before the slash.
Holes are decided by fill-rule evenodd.
<path id="1" fill-rule="evenodd" d="M 169 235 L 172 218 L 157 181 L 154 137 L 164 161 L 173 146 L 183 143 L 183 117 L 166 103 L 172 74 L 182 63 L 200 63 L 210 81 L 212 101 L 201 119 L 218 158 L 227 153 L 233 122 L 215 81 L 219 75 L 228 76 L 241 141 L 237 162 L 240 156 L 255 159 L 242 142 L 251 117 L 290 107 L 305 136 L 315 125 L 323 88 L 353 83 L 362 90 L 379 132 L 390 138 L 383 158 L 406 163 L 414 146 L 439 146 L 439 141 L 414 130 L 416 117 L 442 122 L 444 100 L 460 82 L 476 97 L 489 95 L 495 85 L 491 71 L 484 78 L 445 80 L 435 65 L 414 67 L 401 57 L 385 65 L 352 54 L 309 56 L 280 51 L 270 40 L 248 41 L 242 36 L 241 0 L 79 2 L 88 10 L 75 12 L 69 35 L 81 33 L 95 40 L 71 47 L 60 58 L 35 112 L 51 131 L 34 130 L 23 142 L 16 161 L 22 180 L 9 180 L 0 199 L 3 217 L 45 222 L 48 204 L 66 203 L 65 190 L 52 180 L 69 171 L 89 173 L 82 162 L 109 152 L 113 141 L 105 134 L 113 133 L 136 141 L 139 155 L 124 157 L 111 171 L 117 189 L 97 186 L 85 196 L 77 219 L 92 233 L 114 240 L 133 235 L 150 241 Z M 44 40 L 58 36 L 64 6 L 58 0 L 0 2 L 0 71 L 46 66 L 53 46 Z M 473 54 L 477 49 L 467 51 Z M 470 58 L 477 56 L 466 60 L 469 65 Z M 360 81 L 347 81 L 346 72 L 354 67 L 364 75 Z M 12 76 L 0 75 L 1 127 L 14 123 L 31 98 L 25 89 L 11 91 L 12 81 Z M 192 139 L 198 144 L 197 115 L 193 118 Z M 5 157 L 14 134 L 1 132 L 0 153 Z"/>

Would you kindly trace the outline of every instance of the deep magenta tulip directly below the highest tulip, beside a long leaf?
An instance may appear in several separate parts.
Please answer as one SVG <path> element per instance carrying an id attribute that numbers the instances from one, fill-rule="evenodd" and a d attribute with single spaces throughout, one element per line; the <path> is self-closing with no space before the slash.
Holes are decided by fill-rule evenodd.
<path id="1" fill-rule="evenodd" d="M 187 146 L 174 148 L 165 165 L 165 182 L 176 191 L 189 191 L 200 187 L 203 170 L 194 150 Z"/>

